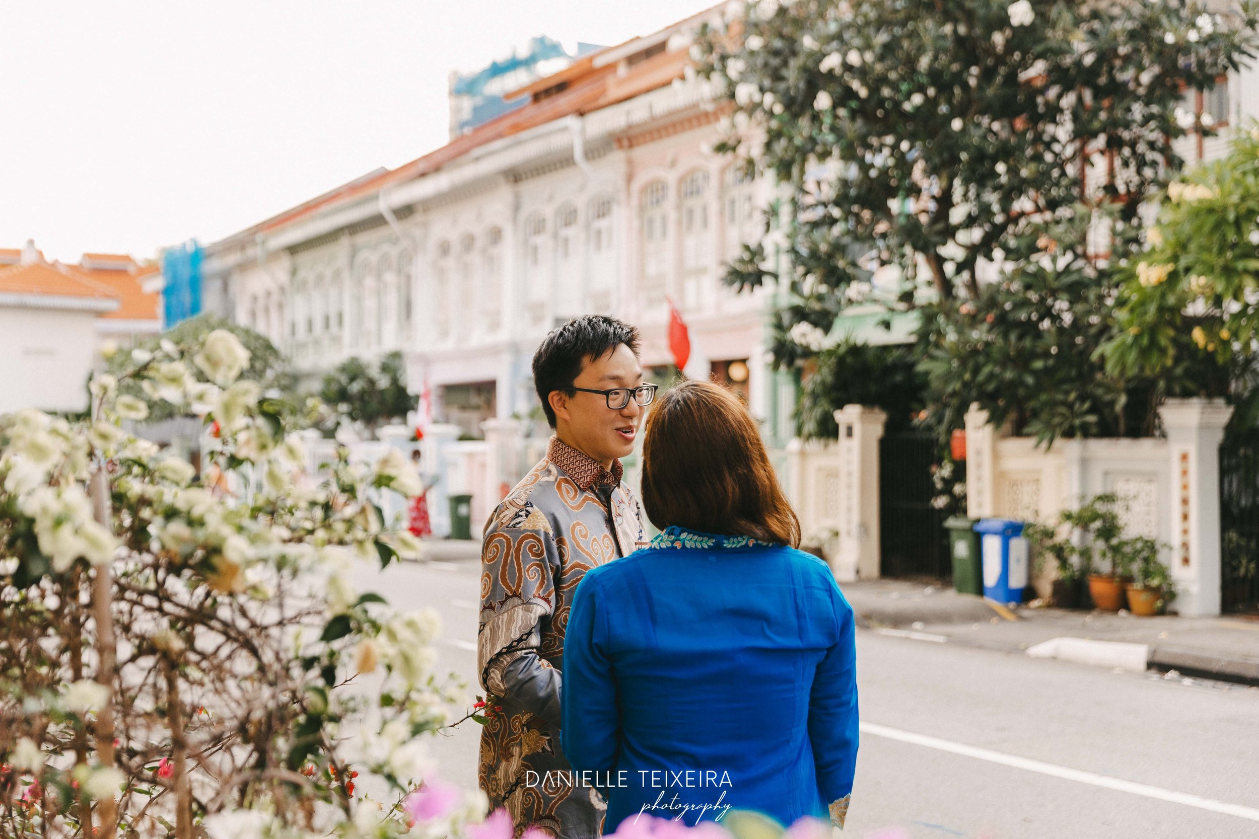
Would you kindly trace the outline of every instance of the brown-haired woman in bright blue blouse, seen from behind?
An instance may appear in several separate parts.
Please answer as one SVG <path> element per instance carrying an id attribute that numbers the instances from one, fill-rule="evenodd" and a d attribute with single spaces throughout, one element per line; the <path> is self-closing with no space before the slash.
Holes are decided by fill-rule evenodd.
<path id="1" fill-rule="evenodd" d="M 686 381 L 643 438 L 651 546 L 588 571 L 564 643 L 564 752 L 607 797 L 604 834 L 640 814 L 730 808 L 844 826 L 857 752 L 852 609 L 799 521 L 755 420 Z"/>

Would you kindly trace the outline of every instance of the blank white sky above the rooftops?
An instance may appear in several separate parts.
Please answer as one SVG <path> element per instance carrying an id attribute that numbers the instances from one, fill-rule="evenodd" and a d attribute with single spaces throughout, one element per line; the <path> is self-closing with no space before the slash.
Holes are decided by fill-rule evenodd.
<path id="1" fill-rule="evenodd" d="M 152 258 L 442 146 L 452 69 L 716 0 L 0 0 L 0 248 Z"/>

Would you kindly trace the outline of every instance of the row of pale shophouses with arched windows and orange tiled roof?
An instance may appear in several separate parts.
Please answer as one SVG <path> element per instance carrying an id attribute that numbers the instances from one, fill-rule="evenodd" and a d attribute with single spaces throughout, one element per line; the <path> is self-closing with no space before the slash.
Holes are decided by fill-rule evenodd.
<path id="1" fill-rule="evenodd" d="M 686 372 L 731 382 L 784 444 L 793 390 L 767 367 L 769 292 L 720 282 L 762 234 L 767 187 L 711 151 L 721 111 L 687 78 L 703 20 L 585 55 L 443 148 L 208 245 L 205 298 L 308 381 L 400 350 L 438 436 L 535 439 L 548 434 L 529 370 L 541 337 L 614 314 L 641 328 L 643 365 L 663 377 L 672 301 L 690 330 Z M 536 448 L 501 465 L 495 439 L 478 445 L 488 460 L 447 482 L 472 492 L 473 518 Z"/>

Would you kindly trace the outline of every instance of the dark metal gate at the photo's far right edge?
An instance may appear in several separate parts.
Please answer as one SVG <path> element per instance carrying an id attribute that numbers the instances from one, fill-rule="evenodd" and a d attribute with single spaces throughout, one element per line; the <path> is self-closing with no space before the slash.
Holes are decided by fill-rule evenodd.
<path id="1" fill-rule="evenodd" d="M 1220 606 L 1259 611 L 1259 440 L 1220 447 Z"/>

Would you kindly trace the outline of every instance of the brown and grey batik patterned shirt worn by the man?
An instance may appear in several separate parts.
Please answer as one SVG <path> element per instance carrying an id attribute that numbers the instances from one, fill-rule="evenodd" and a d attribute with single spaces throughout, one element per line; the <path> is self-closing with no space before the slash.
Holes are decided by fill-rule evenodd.
<path id="1" fill-rule="evenodd" d="M 642 508 L 611 469 L 553 438 L 486 523 L 477 665 L 491 708 L 478 780 L 519 836 L 599 834 L 603 801 L 572 784 L 559 741 L 564 630 L 585 572 L 646 546 Z"/>

